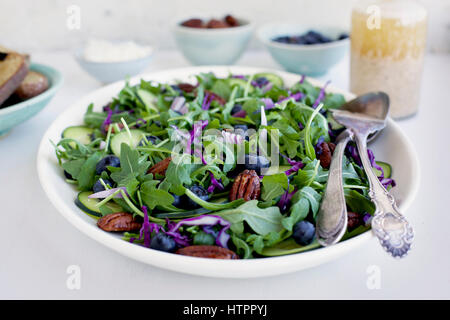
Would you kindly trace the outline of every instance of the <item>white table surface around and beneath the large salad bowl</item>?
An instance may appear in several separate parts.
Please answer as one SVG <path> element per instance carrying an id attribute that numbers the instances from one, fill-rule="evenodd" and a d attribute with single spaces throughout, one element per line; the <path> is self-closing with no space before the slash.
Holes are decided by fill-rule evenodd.
<path id="1" fill-rule="evenodd" d="M 59 69 L 65 83 L 40 114 L 0 139 L 0 298 L 450 298 L 450 55 L 427 56 L 420 112 L 400 122 L 418 150 L 422 170 L 419 194 L 406 212 L 416 232 L 411 254 L 394 260 L 372 239 L 314 269 L 249 280 L 195 277 L 133 261 L 86 237 L 56 211 L 38 181 L 38 144 L 59 113 L 101 84 L 67 52 L 36 53 L 33 60 Z M 238 64 L 279 68 L 266 52 L 246 52 Z M 177 52 L 159 52 L 145 71 L 187 65 Z M 324 79 L 347 89 L 348 61 Z M 79 290 L 67 288 L 70 265 L 80 267 Z M 370 266 L 379 268 L 379 289 L 367 286 Z"/>

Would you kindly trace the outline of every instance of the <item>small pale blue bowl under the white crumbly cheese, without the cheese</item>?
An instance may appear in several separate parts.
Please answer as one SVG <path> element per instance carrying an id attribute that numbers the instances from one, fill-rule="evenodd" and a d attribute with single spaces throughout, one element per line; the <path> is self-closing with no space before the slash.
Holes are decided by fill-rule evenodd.
<path id="1" fill-rule="evenodd" d="M 144 58 L 129 61 L 92 62 L 84 59 L 83 50 L 80 48 L 75 52 L 75 59 L 87 73 L 102 83 L 124 80 L 141 73 L 150 64 L 154 52 L 153 50 Z"/>

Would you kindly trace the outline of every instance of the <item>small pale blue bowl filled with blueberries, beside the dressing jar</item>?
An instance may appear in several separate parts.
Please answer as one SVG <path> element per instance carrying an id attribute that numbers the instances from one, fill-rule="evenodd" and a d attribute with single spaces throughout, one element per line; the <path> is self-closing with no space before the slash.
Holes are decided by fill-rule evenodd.
<path id="1" fill-rule="evenodd" d="M 349 35 L 341 28 L 308 27 L 272 23 L 262 26 L 257 36 L 284 69 L 308 76 L 321 76 L 349 50 Z"/>

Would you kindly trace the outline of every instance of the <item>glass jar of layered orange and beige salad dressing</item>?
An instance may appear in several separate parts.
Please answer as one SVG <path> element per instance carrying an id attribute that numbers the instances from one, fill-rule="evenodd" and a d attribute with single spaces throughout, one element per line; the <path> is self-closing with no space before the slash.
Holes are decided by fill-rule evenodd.
<path id="1" fill-rule="evenodd" d="M 350 88 L 384 91 L 390 115 L 417 112 L 425 52 L 427 13 L 414 1 L 372 0 L 352 12 Z"/>

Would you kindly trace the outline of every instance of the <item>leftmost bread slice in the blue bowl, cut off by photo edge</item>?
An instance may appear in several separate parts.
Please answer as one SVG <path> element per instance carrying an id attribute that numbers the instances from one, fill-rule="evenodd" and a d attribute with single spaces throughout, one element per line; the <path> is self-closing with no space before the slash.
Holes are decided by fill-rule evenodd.
<path id="1" fill-rule="evenodd" d="M 0 52 L 0 105 L 19 87 L 27 73 L 28 65 L 22 55 Z"/>

